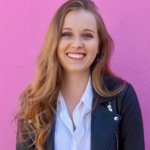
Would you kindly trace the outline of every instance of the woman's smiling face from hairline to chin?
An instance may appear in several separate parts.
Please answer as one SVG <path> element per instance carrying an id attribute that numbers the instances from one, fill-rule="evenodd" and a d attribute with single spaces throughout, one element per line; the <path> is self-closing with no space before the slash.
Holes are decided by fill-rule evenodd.
<path id="1" fill-rule="evenodd" d="M 89 73 L 98 47 L 99 38 L 94 15 L 85 10 L 69 12 L 64 20 L 57 49 L 63 70 L 67 73 Z"/>

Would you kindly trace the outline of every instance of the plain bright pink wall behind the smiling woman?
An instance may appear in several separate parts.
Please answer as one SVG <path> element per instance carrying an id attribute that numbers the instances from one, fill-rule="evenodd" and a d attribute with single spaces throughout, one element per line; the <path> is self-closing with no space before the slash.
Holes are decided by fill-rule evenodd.
<path id="1" fill-rule="evenodd" d="M 48 23 L 63 0 L 0 0 L 0 150 L 15 150 L 18 96 L 32 80 Z M 95 0 L 115 41 L 111 66 L 134 86 L 150 149 L 150 1 Z"/>

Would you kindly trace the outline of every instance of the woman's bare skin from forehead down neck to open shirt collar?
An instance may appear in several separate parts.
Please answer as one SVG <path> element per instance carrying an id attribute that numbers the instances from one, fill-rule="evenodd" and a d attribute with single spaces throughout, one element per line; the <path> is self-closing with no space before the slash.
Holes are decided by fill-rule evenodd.
<path id="1" fill-rule="evenodd" d="M 86 10 L 69 12 L 64 20 L 57 56 L 63 68 L 62 95 L 72 119 L 72 112 L 86 88 L 90 66 L 99 47 L 97 24 L 94 15 Z M 74 54 L 77 57 L 73 58 Z M 73 120 L 72 120 L 73 121 Z"/>

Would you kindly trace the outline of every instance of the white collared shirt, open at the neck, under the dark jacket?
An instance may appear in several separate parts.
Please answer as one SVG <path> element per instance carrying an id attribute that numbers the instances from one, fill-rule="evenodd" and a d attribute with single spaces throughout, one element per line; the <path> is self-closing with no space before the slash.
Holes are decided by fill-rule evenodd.
<path id="1" fill-rule="evenodd" d="M 58 96 L 55 124 L 55 150 L 90 150 L 91 149 L 91 108 L 93 92 L 91 77 L 86 89 L 73 110 L 73 122 L 61 92 Z"/>

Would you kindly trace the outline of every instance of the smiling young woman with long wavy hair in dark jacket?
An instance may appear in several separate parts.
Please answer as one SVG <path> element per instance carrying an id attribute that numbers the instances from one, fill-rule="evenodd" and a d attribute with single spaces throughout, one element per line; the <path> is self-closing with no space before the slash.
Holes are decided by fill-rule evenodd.
<path id="1" fill-rule="evenodd" d="M 20 96 L 17 150 L 144 150 L 137 96 L 111 72 L 112 48 L 92 1 L 58 9 Z"/>

